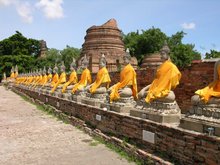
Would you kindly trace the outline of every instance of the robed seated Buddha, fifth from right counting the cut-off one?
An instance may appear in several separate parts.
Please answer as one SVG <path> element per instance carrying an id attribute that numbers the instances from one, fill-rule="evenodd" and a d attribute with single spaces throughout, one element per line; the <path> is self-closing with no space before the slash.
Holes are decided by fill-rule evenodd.
<path id="1" fill-rule="evenodd" d="M 81 74 L 80 81 L 73 86 L 72 94 L 75 94 L 76 92 L 81 93 L 82 91 L 85 91 L 85 88 L 92 82 L 90 70 L 87 68 L 89 60 L 87 59 L 86 55 L 82 58 L 81 64 L 83 72 Z"/>

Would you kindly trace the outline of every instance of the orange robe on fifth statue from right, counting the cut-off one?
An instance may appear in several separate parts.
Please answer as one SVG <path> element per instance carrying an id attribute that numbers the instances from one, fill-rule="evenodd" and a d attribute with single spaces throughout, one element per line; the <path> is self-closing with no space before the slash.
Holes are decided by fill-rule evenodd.
<path id="1" fill-rule="evenodd" d="M 84 88 L 87 84 L 91 84 L 92 82 L 92 77 L 90 74 L 89 69 L 84 69 L 81 75 L 80 81 L 74 85 L 72 89 L 72 93 L 75 93 L 78 89 Z"/>

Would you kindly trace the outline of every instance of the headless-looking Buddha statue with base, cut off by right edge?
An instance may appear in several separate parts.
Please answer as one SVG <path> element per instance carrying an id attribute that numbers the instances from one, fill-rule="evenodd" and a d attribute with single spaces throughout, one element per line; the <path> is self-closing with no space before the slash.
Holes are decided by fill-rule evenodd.
<path id="1" fill-rule="evenodd" d="M 214 66 L 214 80 L 191 97 L 192 107 L 182 115 L 180 127 L 220 136 L 220 60 Z"/>

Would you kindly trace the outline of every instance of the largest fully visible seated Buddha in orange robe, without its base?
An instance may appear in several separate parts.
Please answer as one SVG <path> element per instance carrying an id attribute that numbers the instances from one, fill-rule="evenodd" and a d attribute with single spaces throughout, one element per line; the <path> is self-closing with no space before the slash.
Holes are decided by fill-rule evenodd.
<path id="1" fill-rule="evenodd" d="M 138 98 L 145 98 L 146 103 L 160 101 L 172 103 L 175 101 L 175 94 L 172 91 L 179 84 L 181 73 L 172 63 L 167 43 L 160 50 L 161 59 L 164 61 L 156 71 L 156 76 L 150 85 L 147 85 L 138 93 Z"/>

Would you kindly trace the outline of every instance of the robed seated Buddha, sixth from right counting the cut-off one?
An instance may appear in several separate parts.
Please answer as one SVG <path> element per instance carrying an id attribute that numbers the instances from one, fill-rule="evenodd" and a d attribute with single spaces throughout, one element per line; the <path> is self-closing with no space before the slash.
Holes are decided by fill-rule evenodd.
<path id="1" fill-rule="evenodd" d="M 70 77 L 69 77 L 69 80 L 63 85 L 62 93 L 65 93 L 66 90 L 67 90 L 68 93 L 70 93 L 73 86 L 74 86 L 74 84 L 77 83 L 78 78 L 77 78 L 75 68 L 76 68 L 76 60 L 75 60 L 75 58 L 73 58 L 73 61 L 70 64 L 70 71 L 71 71 Z"/>

